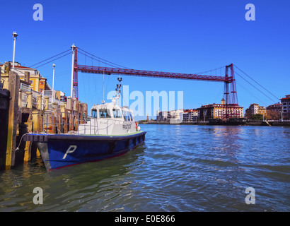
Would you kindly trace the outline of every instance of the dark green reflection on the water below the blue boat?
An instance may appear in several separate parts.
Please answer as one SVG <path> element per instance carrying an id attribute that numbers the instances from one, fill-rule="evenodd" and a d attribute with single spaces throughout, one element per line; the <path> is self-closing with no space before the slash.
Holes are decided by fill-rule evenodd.
<path id="1" fill-rule="evenodd" d="M 41 162 L 34 162 L 33 166 L 31 163 L 25 164 L 21 170 L 12 169 L 3 172 L 0 177 L 3 193 L 0 197 L 2 199 L 2 196 L 8 196 L 8 198 L 6 202 L 0 202 L 0 211 L 14 208 L 34 211 L 74 211 L 78 210 L 80 205 L 86 206 L 88 200 L 94 203 L 92 210 L 105 210 L 105 203 L 113 201 L 119 194 L 123 194 L 123 189 L 134 183 L 133 178 L 128 175 L 132 175 L 135 169 L 141 167 L 143 153 L 144 147 L 139 147 L 120 157 L 50 172 L 47 172 L 44 166 L 41 167 Z M 137 164 L 134 164 L 138 159 Z M 43 190 L 45 203 L 43 206 L 33 204 L 33 189 L 36 186 Z M 98 202 L 95 203 L 95 200 Z M 79 204 L 75 205 L 76 203 Z"/>

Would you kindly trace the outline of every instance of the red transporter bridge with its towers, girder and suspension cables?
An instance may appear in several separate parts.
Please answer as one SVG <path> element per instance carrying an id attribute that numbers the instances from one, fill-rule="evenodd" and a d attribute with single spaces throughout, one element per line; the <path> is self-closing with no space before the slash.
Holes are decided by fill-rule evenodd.
<path id="1" fill-rule="evenodd" d="M 145 76 L 145 77 L 151 77 L 151 78 L 175 78 L 175 79 L 187 79 L 187 80 L 199 80 L 199 81 L 216 81 L 216 82 L 224 82 L 224 100 L 225 100 L 225 105 L 226 105 L 225 106 L 226 111 L 224 112 L 224 119 L 236 118 L 239 115 L 237 110 L 240 107 L 238 106 L 238 95 L 237 95 L 237 90 L 236 90 L 236 79 L 235 79 L 235 74 L 233 71 L 233 64 L 226 66 L 225 76 L 207 76 L 207 75 L 192 74 L 192 73 L 170 73 L 170 72 L 163 72 L 163 71 L 144 71 L 144 70 L 128 69 L 128 68 L 125 68 L 124 66 L 120 66 L 110 61 L 106 61 L 105 59 L 96 57 L 95 55 L 90 54 L 81 48 L 77 48 L 74 44 L 71 46 L 71 49 L 73 53 L 72 64 L 71 64 L 71 97 L 76 98 L 78 100 L 79 100 L 79 88 L 78 88 L 79 86 L 78 85 L 79 84 L 78 72 L 79 71 L 84 72 L 84 73 L 99 73 L 99 74 L 106 74 L 106 75 L 115 74 L 115 75 L 123 75 L 123 76 Z M 78 53 L 83 54 L 85 57 L 90 57 L 91 59 L 95 59 L 96 61 L 99 61 L 103 64 L 107 64 L 113 67 L 80 65 L 78 64 Z M 67 56 L 68 54 L 71 54 L 70 49 L 60 54 L 57 54 L 54 57 L 57 57 L 56 59 L 59 59 L 59 58 Z M 44 61 L 40 61 L 39 63 L 33 64 L 30 67 L 36 66 L 38 64 L 41 64 L 40 66 L 48 64 L 56 60 L 56 59 L 51 60 L 54 57 L 50 57 L 48 59 L 45 59 Z M 50 60 L 50 61 L 47 61 L 47 60 Z M 44 63 L 45 61 L 47 62 Z M 37 68 L 39 68 L 40 66 L 37 66 Z M 255 81 L 255 83 L 257 82 Z"/>

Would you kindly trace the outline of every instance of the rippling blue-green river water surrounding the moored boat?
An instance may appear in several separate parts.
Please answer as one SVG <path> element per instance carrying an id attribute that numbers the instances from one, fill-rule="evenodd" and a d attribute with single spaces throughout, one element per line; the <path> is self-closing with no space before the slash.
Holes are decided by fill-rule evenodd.
<path id="1" fill-rule="evenodd" d="M 289 127 L 141 129 L 144 145 L 119 157 L 50 172 L 38 158 L 0 172 L 0 211 L 290 211 Z"/>

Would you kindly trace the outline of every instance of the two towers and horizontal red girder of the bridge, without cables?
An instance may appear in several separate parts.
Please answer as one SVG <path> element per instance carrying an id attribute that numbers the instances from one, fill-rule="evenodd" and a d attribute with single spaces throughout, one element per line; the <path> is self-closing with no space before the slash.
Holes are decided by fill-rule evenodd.
<path id="1" fill-rule="evenodd" d="M 72 81 L 72 97 L 79 99 L 78 90 L 78 72 L 84 73 L 98 73 L 98 74 L 115 74 L 122 76 L 145 76 L 151 78 L 175 78 L 175 79 L 187 79 L 187 80 L 200 80 L 200 81 L 217 81 L 224 82 L 224 99 L 226 105 L 226 112 L 224 114 L 224 119 L 236 118 L 238 113 L 236 110 L 238 106 L 238 95 L 236 90 L 236 79 L 233 71 L 233 64 L 226 66 L 225 76 L 206 76 L 191 73 L 170 73 L 163 71 L 144 71 L 144 70 L 134 70 L 134 69 L 122 69 L 122 68 L 112 68 L 103 66 L 87 66 L 78 64 L 78 48 L 72 47 L 73 49 L 73 81 Z M 83 51 L 81 49 L 81 51 Z M 87 52 L 86 52 L 87 53 Z M 229 73 L 230 72 L 230 73 Z"/>

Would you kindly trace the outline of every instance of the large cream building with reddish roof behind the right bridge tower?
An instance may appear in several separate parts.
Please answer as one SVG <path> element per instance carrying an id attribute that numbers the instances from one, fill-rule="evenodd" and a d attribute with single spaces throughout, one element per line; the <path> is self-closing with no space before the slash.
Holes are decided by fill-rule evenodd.
<path id="1" fill-rule="evenodd" d="M 226 119 L 228 118 L 243 118 L 243 107 L 226 106 L 224 98 L 221 104 L 202 105 L 197 108 L 197 115 L 200 121 L 208 121 L 209 119 Z"/>

